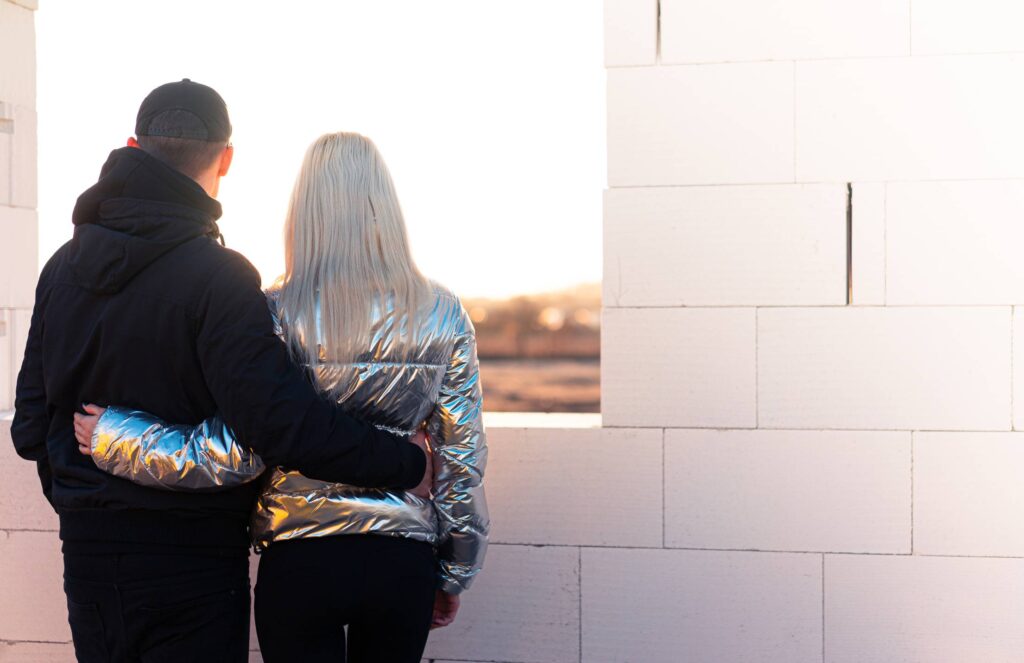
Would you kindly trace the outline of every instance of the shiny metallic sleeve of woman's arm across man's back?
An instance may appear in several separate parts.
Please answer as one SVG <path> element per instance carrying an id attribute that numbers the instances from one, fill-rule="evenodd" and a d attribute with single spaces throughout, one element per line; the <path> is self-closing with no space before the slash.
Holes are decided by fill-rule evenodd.
<path id="1" fill-rule="evenodd" d="M 108 408 L 92 433 L 100 469 L 141 486 L 217 490 L 247 484 L 263 461 L 239 444 L 219 417 L 197 426 L 170 425 L 145 412 Z"/>

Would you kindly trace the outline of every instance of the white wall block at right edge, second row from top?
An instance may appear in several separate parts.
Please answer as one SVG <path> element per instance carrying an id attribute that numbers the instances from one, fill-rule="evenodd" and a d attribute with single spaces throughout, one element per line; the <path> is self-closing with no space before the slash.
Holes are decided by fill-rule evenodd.
<path id="1" fill-rule="evenodd" d="M 1024 176 L 1024 95 L 1009 84 L 1024 75 L 1022 55 L 796 68 L 799 181 Z"/>

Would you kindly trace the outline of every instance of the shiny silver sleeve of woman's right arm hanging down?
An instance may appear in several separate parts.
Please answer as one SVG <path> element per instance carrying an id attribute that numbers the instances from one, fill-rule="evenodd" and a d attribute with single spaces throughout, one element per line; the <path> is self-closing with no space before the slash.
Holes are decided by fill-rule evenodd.
<path id="1" fill-rule="evenodd" d="M 440 589 L 468 589 L 483 566 L 490 520 L 483 495 L 487 441 L 481 418 L 480 369 L 476 337 L 462 312 L 455 348 L 428 421 L 434 458 L 434 505 L 440 541 Z"/>

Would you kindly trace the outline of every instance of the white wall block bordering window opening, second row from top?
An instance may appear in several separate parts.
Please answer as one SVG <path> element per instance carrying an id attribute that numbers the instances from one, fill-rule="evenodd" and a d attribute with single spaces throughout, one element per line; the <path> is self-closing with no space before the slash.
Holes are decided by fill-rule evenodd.
<path id="1" fill-rule="evenodd" d="M 608 71 L 612 187 L 793 181 L 793 65 Z"/>

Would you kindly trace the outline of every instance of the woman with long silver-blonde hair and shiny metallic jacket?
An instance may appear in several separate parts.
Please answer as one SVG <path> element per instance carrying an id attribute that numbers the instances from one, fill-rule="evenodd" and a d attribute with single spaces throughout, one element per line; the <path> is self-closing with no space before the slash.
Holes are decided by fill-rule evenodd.
<path id="1" fill-rule="evenodd" d="M 473 326 L 458 298 L 417 270 L 391 177 L 361 135 L 327 134 L 309 148 L 285 258 L 267 300 L 295 361 L 353 415 L 409 436 L 425 427 L 434 484 L 424 499 L 285 467 L 264 473 L 251 525 L 262 552 L 263 658 L 418 662 L 429 629 L 455 618 L 486 549 Z M 133 482 L 212 490 L 263 472 L 216 418 L 194 427 L 117 407 L 87 411 L 76 421 L 83 453 Z"/>

